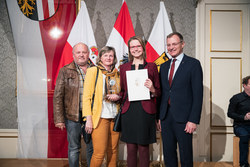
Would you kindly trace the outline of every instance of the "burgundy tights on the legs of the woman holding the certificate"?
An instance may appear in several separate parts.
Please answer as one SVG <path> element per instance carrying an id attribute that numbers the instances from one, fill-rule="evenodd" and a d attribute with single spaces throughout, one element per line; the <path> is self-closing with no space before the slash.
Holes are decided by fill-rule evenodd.
<path id="1" fill-rule="evenodd" d="M 127 166 L 137 167 L 137 152 L 139 152 L 139 167 L 149 167 L 149 145 L 127 143 Z"/>

